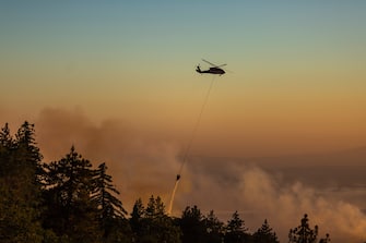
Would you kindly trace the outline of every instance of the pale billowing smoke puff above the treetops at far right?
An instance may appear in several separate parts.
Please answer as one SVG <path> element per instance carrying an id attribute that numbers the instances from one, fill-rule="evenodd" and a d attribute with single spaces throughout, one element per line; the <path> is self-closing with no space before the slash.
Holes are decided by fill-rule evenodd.
<path id="1" fill-rule="evenodd" d="M 343 242 L 365 240 L 362 236 L 366 232 L 366 217 L 359 208 L 320 196 L 315 189 L 299 182 L 281 185 L 258 168 L 247 170 L 243 178 L 244 203 L 271 217 L 280 229 L 294 228 L 306 212 L 311 222 L 320 227 L 321 235 L 331 233 Z M 297 221 L 293 221 L 296 217 Z"/>

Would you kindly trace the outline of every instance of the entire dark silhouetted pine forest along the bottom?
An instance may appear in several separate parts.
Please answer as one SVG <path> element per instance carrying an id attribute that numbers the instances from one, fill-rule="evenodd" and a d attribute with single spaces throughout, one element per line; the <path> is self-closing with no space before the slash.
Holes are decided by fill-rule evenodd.
<path id="1" fill-rule="evenodd" d="M 214 210 L 203 215 L 193 205 L 172 217 L 158 195 L 146 204 L 137 198 L 128 212 L 105 162 L 93 168 L 74 146 L 59 160 L 44 161 L 28 122 L 14 135 L 8 123 L 1 127 L 0 168 L 0 242 L 279 242 L 267 219 L 249 232 L 238 211 L 223 222 Z M 291 243 L 329 241 L 307 215 L 288 233 Z"/>

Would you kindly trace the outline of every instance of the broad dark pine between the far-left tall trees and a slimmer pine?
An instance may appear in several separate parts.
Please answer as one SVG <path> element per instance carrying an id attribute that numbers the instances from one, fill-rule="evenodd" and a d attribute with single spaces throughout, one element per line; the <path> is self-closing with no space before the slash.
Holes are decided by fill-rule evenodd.
<path id="1" fill-rule="evenodd" d="M 61 160 L 44 165 L 47 203 L 44 227 L 75 242 L 98 241 L 97 210 L 91 199 L 94 189 L 91 167 L 73 146 Z"/>

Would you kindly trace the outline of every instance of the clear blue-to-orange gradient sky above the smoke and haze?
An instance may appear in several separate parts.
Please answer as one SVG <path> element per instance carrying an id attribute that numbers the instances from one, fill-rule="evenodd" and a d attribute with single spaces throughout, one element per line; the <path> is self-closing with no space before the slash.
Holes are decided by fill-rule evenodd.
<path id="1" fill-rule="evenodd" d="M 194 72 L 205 58 L 232 72 L 216 78 L 198 153 L 362 146 L 365 7 L 1 1 L 1 121 L 26 119 L 44 107 L 78 107 L 96 121 L 121 118 L 187 141 L 211 82 Z"/>

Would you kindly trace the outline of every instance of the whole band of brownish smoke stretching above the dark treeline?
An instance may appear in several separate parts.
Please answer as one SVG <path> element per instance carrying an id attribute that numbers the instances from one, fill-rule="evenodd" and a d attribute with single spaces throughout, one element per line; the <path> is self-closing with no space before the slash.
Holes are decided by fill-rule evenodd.
<path id="1" fill-rule="evenodd" d="M 106 162 L 127 210 L 139 197 L 146 202 L 151 195 L 168 205 L 181 166 L 179 144 L 149 136 L 117 119 L 93 123 L 81 110 L 47 108 L 35 123 L 46 161 L 59 160 L 74 145 L 94 166 Z M 203 212 L 213 209 L 222 220 L 238 210 L 251 232 L 268 219 L 281 242 L 287 241 L 288 230 L 304 214 L 312 227 L 319 226 L 319 236 L 330 233 L 332 242 L 365 241 L 366 216 L 358 207 L 256 163 L 188 158 L 172 214 L 180 216 L 191 205 Z"/>

